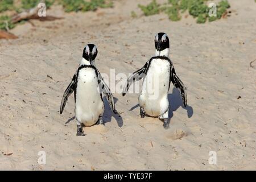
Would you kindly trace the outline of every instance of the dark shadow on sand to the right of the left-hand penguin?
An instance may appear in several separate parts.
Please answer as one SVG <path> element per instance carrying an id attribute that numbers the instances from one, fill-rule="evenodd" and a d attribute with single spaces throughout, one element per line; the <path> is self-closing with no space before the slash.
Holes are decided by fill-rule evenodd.
<path id="1" fill-rule="evenodd" d="M 117 101 L 118 101 L 118 98 L 114 97 L 115 104 L 117 103 Z M 104 106 L 105 106 L 105 110 L 104 110 L 104 113 L 103 113 L 104 123 L 110 122 L 111 118 L 114 117 L 115 121 L 117 121 L 118 127 L 122 127 L 123 126 L 123 118 L 121 117 L 121 115 L 113 113 L 112 109 L 109 106 L 109 102 L 106 100 L 106 97 L 103 98 L 103 102 L 104 102 Z"/>

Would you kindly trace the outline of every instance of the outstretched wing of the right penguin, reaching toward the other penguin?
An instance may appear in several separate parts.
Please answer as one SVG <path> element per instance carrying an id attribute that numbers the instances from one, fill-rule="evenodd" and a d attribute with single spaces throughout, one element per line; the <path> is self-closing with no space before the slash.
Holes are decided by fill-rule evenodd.
<path id="1" fill-rule="evenodd" d="M 125 96 L 126 93 L 128 92 L 129 87 L 130 87 L 132 82 L 139 81 L 139 80 L 141 80 L 141 78 L 143 78 L 145 76 L 145 73 L 147 71 L 148 65 L 149 65 L 149 61 L 147 61 L 147 63 L 141 69 L 138 69 L 137 71 L 135 71 L 133 73 L 133 75 L 131 75 L 127 79 L 126 86 L 123 88 L 123 96 Z"/>

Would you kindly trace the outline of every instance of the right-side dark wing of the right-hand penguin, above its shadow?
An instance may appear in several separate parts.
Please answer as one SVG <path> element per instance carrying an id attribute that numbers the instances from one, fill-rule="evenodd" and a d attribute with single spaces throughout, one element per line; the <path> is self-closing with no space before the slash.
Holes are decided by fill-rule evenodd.
<path id="1" fill-rule="evenodd" d="M 181 94 L 181 97 L 182 97 L 184 107 L 187 106 L 186 88 L 185 88 L 183 82 L 180 80 L 180 78 L 176 75 L 174 65 L 172 65 L 171 76 L 170 77 L 171 77 L 170 80 L 172 81 L 172 84 L 174 84 L 175 88 L 180 90 L 180 94 Z M 169 88 L 170 88 L 170 84 L 169 84 Z"/>

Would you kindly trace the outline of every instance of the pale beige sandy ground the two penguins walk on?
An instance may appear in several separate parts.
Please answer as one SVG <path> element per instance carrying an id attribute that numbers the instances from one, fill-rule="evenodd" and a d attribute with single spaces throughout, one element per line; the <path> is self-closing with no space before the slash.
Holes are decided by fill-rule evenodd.
<path id="1" fill-rule="evenodd" d="M 137 4 L 147 2 L 115 1 L 113 9 L 84 14 L 57 6 L 47 13 L 64 19 L 31 20 L 11 31 L 19 39 L 0 40 L 0 169 L 256 169 L 255 2 L 229 0 L 231 16 L 206 24 L 141 16 Z M 114 93 L 121 117 L 106 107 L 105 126 L 76 137 L 73 95 L 62 115 L 59 107 L 85 44 L 97 45 L 101 73 L 128 74 L 154 54 L 157 32 L 170 36 L 188 106 L 171 85 L 164 130 L 159 119 L 139 117 L 138 94 Z M 210 151 L 216 165 L 208 163 Z"/>

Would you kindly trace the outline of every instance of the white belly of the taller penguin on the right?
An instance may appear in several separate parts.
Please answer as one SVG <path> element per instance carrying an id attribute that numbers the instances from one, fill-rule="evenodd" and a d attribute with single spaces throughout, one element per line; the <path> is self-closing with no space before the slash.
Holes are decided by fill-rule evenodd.
<path id="1" fill-rule="evenodd" d="M 170 63 L 167 60 L 152 60 L 139 96 L 139 105 L 147 115 L 159 117 L 167 111 L 169 79 Z"/>

